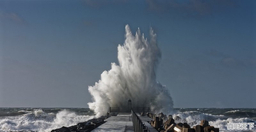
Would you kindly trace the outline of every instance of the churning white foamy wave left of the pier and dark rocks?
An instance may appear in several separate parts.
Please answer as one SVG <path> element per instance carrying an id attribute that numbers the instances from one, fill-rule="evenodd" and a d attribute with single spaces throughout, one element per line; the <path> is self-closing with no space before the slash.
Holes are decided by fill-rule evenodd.
<path id="1" fill-rule="evenodd" d="M 95 117 L 77 115 L 68 110 L 62 110 L 57 114 L 36 110 L 19 116 L 2 117 L 0 119 L 0 131 L 49 132 L 52 129 L 76 125 L 78 122 L 87 121 L 92 118 Z"/>

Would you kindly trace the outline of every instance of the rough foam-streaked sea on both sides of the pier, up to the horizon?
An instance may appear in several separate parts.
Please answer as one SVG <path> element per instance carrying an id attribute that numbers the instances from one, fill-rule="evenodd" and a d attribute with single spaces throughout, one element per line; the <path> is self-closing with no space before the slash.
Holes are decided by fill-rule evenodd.
<path id="1" fill-rule="evenodd" d="M 170 113 L 187 122 L 208 120 L 220 131 L 256 131 L 256 108 L 174 108 Z M 68 127 L 96 118 L 89 108 L 0 108 L 1 132 L 50 132 L 62 126 Z M 227 123 L 253 122 L 249 130 L 227 130 Z M 192 127 L 192 126 L 191 126 Z"/>

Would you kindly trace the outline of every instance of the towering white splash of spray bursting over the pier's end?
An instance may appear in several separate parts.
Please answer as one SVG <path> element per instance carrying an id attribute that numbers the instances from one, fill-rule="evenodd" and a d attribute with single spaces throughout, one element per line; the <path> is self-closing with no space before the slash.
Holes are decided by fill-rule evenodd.
<path id="1" fill-rule="evenodd" d="M 128 99 L 132 107 L 151 107 L 171 110 L 172 98 L 164 85 L 156 82 L 155 69 L 161 58 L 156 34 L 150 28 L 150 40 L 144 38 L 140 29 L 133 36 L 125 26 L 126 39 L 118 45 L 118 62 L 111 63 L 111 69 L 101 74 L 101 80 L 89 86 L 92 103 L 89 108 L 96 116 L 106 115 L 109 107 L 127 108 Z"/>

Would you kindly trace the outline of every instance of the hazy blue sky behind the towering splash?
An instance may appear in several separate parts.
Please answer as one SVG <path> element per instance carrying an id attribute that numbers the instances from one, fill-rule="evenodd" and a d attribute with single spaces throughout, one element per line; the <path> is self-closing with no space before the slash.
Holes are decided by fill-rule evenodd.
<path id="1" fill-rule="evenodd" d="M 256 108 L 256 1 L 0 1 L 0 107 L 88 107 L 125 25 L 162 53 L 175 108 Z"/>

